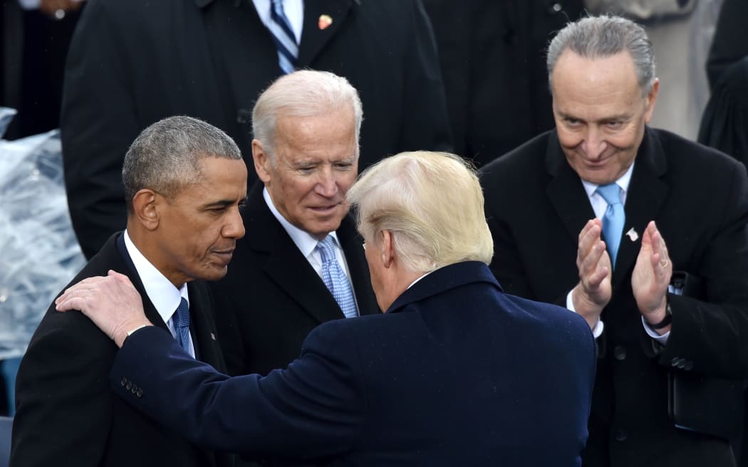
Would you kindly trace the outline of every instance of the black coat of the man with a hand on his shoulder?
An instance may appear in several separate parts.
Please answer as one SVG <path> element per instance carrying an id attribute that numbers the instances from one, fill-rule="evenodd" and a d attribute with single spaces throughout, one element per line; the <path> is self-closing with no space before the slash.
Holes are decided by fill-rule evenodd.
<path id="1" fill-rule="evenodd" d="M 120 238 L 109 238 L 70 285 L 109 269 L 124 273 L 140 292 L 147 318 L 168 332 L 132 261 L 123 256 Z M 190 282 L 188 291 L 197 356 L 224 368 L 209 292 L 200 282 Z M 111 392 L 106 375 L 116 352 L 117 346 L 82 313 L 56 312 L 54 303 L 49 307 L 18 371 L 10 465 L 229 466 L 226 454 L 191 444 L 179 430 L 154 422 Z"/>

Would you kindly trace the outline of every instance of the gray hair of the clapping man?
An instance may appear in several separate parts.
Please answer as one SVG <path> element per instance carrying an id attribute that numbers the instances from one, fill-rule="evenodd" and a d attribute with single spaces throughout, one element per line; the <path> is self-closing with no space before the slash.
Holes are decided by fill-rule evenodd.
<path id="1" fill-rule="evenodd" d="M 566 49 L 585 58 L 610 57 L 626 51 L 634 61 L 643 96 L 652 90 L 655 79 L 652 43 L 644 28 L 630 19 L 588 16 L 568 23 L 548 46 L 548 84 L 552 84 L 554 67 Z"/>

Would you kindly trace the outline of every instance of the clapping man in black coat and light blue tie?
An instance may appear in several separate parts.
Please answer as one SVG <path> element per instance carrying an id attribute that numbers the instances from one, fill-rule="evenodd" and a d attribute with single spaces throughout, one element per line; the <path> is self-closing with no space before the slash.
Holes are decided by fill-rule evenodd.
<path id="1" fill-rule="evenodd" d="M 506 291 L 586 318 L 586 466 L 734 466 L 748 377 L 746 168 L 647 126 L 646 32 L 598 16 L 548 49 L 556 129 L 483 167 Z"/>

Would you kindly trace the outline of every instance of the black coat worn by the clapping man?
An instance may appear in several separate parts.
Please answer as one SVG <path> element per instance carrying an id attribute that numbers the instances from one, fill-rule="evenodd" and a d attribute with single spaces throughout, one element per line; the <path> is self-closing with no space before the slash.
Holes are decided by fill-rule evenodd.
<path id="1" fill-rule="evenodd" d="M 577 238 L 595 217 L 557 134 L 530 140 L 483 169 L 485 210 L 494 235 L 491 269 L 509 293 L 565 303 L 579 282 Z M 521 202 L 516 202 L 518 196 Z M 602 312 L 595 398 L 585 461 L 589 466 L 729 466 L 729 445 L 678 430 L 668 415 L 669 374 L 742 383 L 748 347 L 748 181 L 720 152 L 646 129 L 625 202 L 613 297 Z M 674 270 L 703 279 L 700 300 L 669 294 L 666 346 L 646 335 L 631 291 L 640 235 L 655 220 Z M 735 395 L 702 398 L 717 410 Z"/>

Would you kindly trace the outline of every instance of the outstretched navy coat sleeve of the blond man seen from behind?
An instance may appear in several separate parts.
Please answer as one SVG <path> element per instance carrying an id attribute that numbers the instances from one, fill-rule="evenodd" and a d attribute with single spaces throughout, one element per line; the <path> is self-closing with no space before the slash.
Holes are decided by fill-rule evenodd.
<path id="1" fill-rule="evenodd" d="M 316 328 L 301 358 L 267 377 L 218 373 L 147 327 L 117 353 L 111 386 L 206 448 L 263 458 L 341 454 L 361 439 L 365 401 L 355 342 L 344 321 L 335 324 Z M 128 382 L 140 391 L 127 390 Z"/>

